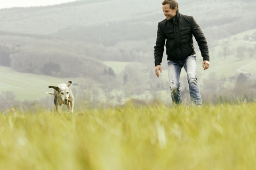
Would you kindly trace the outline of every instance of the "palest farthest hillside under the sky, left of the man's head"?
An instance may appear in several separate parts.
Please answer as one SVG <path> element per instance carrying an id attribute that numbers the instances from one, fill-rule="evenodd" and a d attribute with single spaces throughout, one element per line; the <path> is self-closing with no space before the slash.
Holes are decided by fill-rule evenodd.
<path id="1" fill-rule="evenodd" d="M 0 10 L 0 30 L 47 35 L 70 27 L 130 20 L 159 7 L 161 9 L 161 4 L 153 0 L 87 0 L 46 7 L 10 8 Z"/>

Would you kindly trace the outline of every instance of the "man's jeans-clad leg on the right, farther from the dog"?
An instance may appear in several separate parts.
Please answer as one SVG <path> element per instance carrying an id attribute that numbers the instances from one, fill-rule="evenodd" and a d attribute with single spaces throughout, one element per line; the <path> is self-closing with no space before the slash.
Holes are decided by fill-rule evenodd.
<path id="1" fill-rule="evenodd" d="M 189 94 L 193 105 L 202 105 L 202 99 L 196 78 L 196 56 L 188 56 L 184 62 L 184 69 L 187 72 Z"/>

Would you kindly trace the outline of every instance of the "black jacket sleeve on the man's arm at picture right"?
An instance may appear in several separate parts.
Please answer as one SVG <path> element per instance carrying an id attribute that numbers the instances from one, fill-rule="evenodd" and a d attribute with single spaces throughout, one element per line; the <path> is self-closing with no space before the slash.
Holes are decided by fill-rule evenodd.
<path id="1" fill-rule="evenodd" d="M 192 33 L 197 41 L 202 57 L 204 58 L 204 60 L 210 61 L 209 49 L 208 49 L 206 38 L 204 37 L 203 31 L 201 30 L 201 28 L 196 23 L 193 17 L 192 17 Z"/>

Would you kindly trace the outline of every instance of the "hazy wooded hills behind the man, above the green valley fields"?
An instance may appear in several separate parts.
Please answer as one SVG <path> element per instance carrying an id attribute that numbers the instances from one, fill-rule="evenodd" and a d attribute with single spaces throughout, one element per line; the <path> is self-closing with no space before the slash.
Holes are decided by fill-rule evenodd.
<path id="1" fill-rule="evenodd" d="M 210 52 L 219 45 L 216 40 L 256 28 L 255 1 L 187 0 L 179 8 L 201 25 Z M 0 65 L 18 72 L 94 79 L 108 69 L 102 61 L 151 66 L 157 23 L 163 19 L 161 1 L 155 0 L 2 9 Z"/>

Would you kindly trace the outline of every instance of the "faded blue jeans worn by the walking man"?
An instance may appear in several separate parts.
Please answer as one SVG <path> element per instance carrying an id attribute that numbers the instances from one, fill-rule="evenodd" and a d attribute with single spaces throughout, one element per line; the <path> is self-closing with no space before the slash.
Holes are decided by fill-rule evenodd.
<path id="1" fill-rule="evenodd" d="M 184 67 L 188 76 L 189 94 L 193 105 L 202 105 L 202 99 L 196 79 L 196 56 L 188 56 L 185 61 L 168 61 L 168 75 L 171 88 L 171 96 L 174 104 L 181 104 L 180 72 Z"/>

